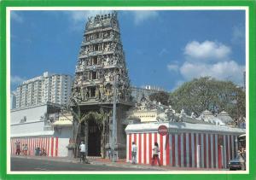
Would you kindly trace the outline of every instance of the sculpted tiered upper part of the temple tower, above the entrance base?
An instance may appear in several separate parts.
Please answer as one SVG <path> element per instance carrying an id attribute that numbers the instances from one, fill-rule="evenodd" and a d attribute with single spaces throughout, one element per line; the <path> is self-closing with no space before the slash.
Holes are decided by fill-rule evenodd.
<path id="1" fill-rule="evenodd" d="M 113 102 L 114 77 L 118 101 L 130 100 L 130 81 L 116 12 L 88 19 L 75 74 L 73 96 L 80 103 Z"/>

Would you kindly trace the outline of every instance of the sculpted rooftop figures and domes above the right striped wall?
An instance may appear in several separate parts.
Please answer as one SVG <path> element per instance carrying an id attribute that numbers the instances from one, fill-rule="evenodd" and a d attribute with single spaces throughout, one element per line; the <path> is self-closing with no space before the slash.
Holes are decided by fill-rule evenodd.
<path id="1" fill-rule="evenodd" d="M 136 107 L 127 112 L 128 119 L 126 123 L 148 123 L 148 122 L 187 122 L 191 124 L 205 124 L 236 127 L 234 119 L 229 113 L 222 111 L 218 114 L 212 114 L 205 110 L 199 117 L 195 117 L 194 113 L 188 115 L 182 109 L 177 113 L 172 106 L 165 106 L 160 102 L 150 102 L 147 98 L 143 98 L 141 102 L 137 102 Z M 127 122 L 127 120 L 129 122 Z"/>

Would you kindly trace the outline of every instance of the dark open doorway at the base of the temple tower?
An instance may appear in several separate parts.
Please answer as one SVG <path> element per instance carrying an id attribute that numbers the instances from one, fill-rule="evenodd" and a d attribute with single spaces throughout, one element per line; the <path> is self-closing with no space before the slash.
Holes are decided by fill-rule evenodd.
<path id="1" fill-rule="evenodd" d="M 89 120 L 88 127 L 88 156 L 101 156 L 102 128 L 96 125 L 95 119 Z"/>

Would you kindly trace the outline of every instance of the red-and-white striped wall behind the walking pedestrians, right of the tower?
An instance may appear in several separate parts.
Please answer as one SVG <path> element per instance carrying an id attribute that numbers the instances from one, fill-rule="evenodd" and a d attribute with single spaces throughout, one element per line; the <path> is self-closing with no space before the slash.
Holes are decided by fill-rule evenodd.
<path id="1" fill-rule="evenodd" d="M 160 163 L 173 167 L 227 168 L 237 152 L 234 133 L 178 132 L 161 136 L 158 132 L 126 134 L 126 160 L 131 161 L 131 142 L 137 144 L 137 163 L 150 164 L 154 142 L 160 148 Z"/>

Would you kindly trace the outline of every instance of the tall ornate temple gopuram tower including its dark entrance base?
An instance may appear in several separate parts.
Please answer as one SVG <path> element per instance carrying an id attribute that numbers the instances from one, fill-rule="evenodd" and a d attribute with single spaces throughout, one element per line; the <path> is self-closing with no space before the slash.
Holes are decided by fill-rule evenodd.
<path id="1" fill-rule="evenodd" d="M 79 100 L 81 112 L 91 114 L 81 125 L 79 136 L 79 141 L 88 145 L 88 155 L 103 156 L 111 147 L 115 89 L 116 144 L 119 157 L 125 156 L 124 119 L 131 107 L 129 88 L 117 12 L 88 18 L 73 83 L 73 96 Z M 103 120 L 97 119 L 102 112 Z"/>

